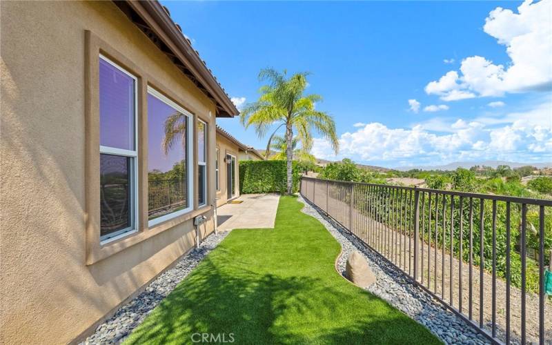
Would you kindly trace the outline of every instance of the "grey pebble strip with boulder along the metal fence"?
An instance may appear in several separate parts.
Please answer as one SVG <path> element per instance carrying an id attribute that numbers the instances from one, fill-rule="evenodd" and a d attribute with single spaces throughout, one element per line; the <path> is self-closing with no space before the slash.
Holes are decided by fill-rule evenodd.
<path id="1" fill-rule="evenodd" d="M 334 219 L 328 217 L 324 211 L 311 204 L 301 195 L 299 195 L 298 200 L 305 205 L 302 212 L 319 220 L 341 244 L 342 253 L 339 255 L 335 266 L 342 276 L 345 273 L 348 255 L 357 250 L 366 258 L 368 266 L 377 278 L 377 282 L 368 286 L 366 290 L 385 299 L 395 308 L 426 326 L 446 344 L 491 344 L 489 339 L 442 306 L 430 294 L 411 284 L 409 277 L 382 259 L 364 242 L 349 233 Z"/>

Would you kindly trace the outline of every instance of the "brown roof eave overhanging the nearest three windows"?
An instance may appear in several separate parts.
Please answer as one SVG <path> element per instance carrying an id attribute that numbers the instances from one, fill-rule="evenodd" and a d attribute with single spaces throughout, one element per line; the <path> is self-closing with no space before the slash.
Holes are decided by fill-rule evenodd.
<path id="1" fill-rule="evenodd" d="M 213 71 L 199 57 L 182 28 L 172 21 L 170 12 L 159 1 L 113 1 L 128 19 L 164 52 L 199 90 L 215 103 L 217 117 L 235 117 L 239 114 Z"/>

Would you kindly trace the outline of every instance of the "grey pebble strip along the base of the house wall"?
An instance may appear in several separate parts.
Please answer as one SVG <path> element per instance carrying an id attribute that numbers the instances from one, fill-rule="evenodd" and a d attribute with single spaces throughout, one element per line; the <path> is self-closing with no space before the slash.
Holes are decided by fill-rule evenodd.
<path id="1" fill-rule="evenodd" d="M 94 334 L 79 344 L 119 344 L 144 321 L 157 304 L 161 302 L 182 279 L 203 260 L 211 250 L 229 234 L 229 231 L 211 233 L 188 255 L 182 257 L 175 266 L 161 273 L 144 291 L 130 302 L 121 306 L 110 319 L 97 326 Z"/>

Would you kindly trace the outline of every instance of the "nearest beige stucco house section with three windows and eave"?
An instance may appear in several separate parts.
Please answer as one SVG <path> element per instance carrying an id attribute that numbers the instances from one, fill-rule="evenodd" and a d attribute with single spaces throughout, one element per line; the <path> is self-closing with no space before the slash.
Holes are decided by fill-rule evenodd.
<path id="1" fill-rule="evenodd" d="M 0 344 L 78 342 L 213 231 L 238 111 L 157 1 L 0 10 Z"/>

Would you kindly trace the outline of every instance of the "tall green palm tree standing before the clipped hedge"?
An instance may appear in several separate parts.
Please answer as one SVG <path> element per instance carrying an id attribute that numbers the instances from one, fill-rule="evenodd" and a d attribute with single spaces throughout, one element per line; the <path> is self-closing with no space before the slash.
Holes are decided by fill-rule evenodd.
<path id="1" fill-rule="evenodd" d="M 330 141 L 335 153 L 339 150 L 339 141 L 335 133 L 333 118 L 326 112 L 315 110 L 315 102 L 322 101 L 319 95 L 304 95 L 308 86 L 308 73 L 301 72 L 288 77 L 286 70 L 278 72 L 267 68 L 259 72 L 259 81 L 268 81 L 260 89 L 261 96 L 254 103 L 249 103 L 242 110 L 240 120 L 245 128 L 253 125 L 259 138 L 266 132 L 276 129 L 268 139 L 270 142 L 279 128 L 286 127 L 286 160 L 287 160 L 287 193 L 293 192 L 291 164 L 293 161 L 293 130 L 303 150 L 310 151 L 313 146 L 312 131 Z"/>

